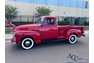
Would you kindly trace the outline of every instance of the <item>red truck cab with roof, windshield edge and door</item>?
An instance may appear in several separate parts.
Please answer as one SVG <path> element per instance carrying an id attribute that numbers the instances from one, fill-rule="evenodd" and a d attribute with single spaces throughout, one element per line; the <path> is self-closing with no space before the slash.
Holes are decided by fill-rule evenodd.
<path id="1" fill-rule="evenodd" d="M 39 29 L 41 31 L 39 32 L 41 34 L 42 40 L 58 38 L 58 27 L 56 17 L 42 16 L 40 20 L 38 20 L 38 23 L 41 24 L 41 28 Z"/>

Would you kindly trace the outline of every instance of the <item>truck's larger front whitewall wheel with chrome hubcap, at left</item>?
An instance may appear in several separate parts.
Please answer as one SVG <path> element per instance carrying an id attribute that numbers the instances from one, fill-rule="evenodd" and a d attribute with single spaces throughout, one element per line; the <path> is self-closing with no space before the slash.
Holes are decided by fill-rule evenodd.
<path id="1" fill-rule="evenodd" d="M 34 45 L 34 41 L 31 38 L 24 38 L 21 42 L 21 46 L 23 49 L 31 49 Z"/>

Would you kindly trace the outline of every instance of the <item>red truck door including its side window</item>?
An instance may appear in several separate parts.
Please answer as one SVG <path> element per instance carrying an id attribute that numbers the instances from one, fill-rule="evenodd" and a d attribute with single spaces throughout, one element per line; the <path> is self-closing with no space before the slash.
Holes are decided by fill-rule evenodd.
<path id="1" fill-rule="evenodd" d="M 41 38 L 42 39 L 55 39 L 58 37 L 58 27 L 55 18 L 45 18 L 43 22 L 43 27 Z"/>

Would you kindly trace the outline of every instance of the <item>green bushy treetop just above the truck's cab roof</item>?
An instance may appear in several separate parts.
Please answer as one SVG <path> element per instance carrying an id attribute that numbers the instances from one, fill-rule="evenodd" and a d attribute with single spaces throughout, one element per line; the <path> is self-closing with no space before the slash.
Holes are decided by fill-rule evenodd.
<path id="1" fill-rule="evenodd" d="M 50 10 L 49 8 L 46 7 L 37 7 L 36 11 L 37 12 L 35 13 L 35 16 L 45 16 L 45 15 L 50 15 L 50 13 L 53 10 Z"/>

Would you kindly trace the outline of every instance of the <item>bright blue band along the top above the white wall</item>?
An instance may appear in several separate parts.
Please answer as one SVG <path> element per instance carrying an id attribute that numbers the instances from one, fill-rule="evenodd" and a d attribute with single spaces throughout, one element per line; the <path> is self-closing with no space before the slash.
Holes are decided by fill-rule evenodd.
<path id="1" fill-rule="evenodd" d="M 26 2 L 35 4 L 46 4 L 53 6 L 65 6 L 74 8 L 85 8 L 85 1 L 83 0 L 12 0 L 16 2 Z"/>

